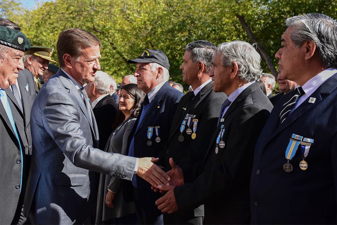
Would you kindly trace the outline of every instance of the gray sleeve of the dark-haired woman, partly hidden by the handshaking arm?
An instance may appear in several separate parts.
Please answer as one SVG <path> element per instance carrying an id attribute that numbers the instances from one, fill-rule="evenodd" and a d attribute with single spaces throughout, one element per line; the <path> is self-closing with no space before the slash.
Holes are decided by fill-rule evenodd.
<path id="1" fill-rule="evenodd" d="M 122 142 L 122 143 L 123 143 L 123 146 L 122 146 L 122 152 L 121 152 L 122 155 L 125 155 L 125 154 L 126 154 L 126 150 L 127 150 L 127 149 L 126 149 L 126 148 L 127 148 L 127 139 L 128 139 L 128 137 L 129 137 L 129 135 L 130 135 L 130 132 L 131 132 L 131 130 L 132 130 L 133 125 L 134 125 L 135 122 L 136 122 L 136 119 L 131 119 L 131 120 L 129 120 L 129 121 L 124 125 L 124 129 L 123 129 L 124 134 L 123 134 L 123 140 L 122 140 L 122 141 L 123 141 L 123 142 Z M 122 184 L 122 180 L 119 179 L 119 177 L 113 176 L 113 177 L 111 177 L 111 179 L 110 179 L 108 188 L 109 188 L 111 191 L 117 193 L 117 192 L 119 191 L 120 187 L 121 187 L 121 184 Z"/>

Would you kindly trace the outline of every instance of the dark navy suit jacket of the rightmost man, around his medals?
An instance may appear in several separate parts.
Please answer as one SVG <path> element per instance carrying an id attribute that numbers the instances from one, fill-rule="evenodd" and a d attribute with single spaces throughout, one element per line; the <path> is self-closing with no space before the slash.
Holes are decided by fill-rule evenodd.
<path id="1" fill-rule="evenodd" d="M 279 124 L 284 95 L 271 112 L 257 141 L 251 174 L 252 224 L 336 224 L 337 187 L 337 74 Z M 314 103 L 309 99 L 316 98 Z M 292 134 L 314 139 L 305 161 L 299 148 L 283 170 L 285 150 Z"/>

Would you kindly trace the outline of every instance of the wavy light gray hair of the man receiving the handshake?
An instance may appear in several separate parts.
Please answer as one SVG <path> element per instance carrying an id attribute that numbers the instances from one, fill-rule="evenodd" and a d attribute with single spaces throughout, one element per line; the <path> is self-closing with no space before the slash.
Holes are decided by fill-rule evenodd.
<path id="1" fill-rule="evenodd" d="M 238 77 L 241 80 L 252 82 L 261 79 L 261 56 L 246 41 L 235 40 L 222 43 L 216 53 L 221 55 L 223 66 L 232 66 L 233 62 L 238 64 Z"/>

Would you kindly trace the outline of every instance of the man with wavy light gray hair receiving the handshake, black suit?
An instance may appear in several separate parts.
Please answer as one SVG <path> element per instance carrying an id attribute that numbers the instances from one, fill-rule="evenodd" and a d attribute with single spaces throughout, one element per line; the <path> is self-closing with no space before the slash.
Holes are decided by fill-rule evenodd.
<path id="1" fill-rule="evenodd" d="M 220 44 L 209 76 L 228 98 L 202 163 L 180 169 L 170 159 L 172 186 L 156 201 L 169 214 L 204 204 L 204 224 L 249 224 L 249 179 L 256 140 L 273 106 L 256 81 L 261 57 L 245 41 Z M 175 176 L 173 176 L 175 174 Z M 180 178 L 180 179 L 179 179 Z"/>

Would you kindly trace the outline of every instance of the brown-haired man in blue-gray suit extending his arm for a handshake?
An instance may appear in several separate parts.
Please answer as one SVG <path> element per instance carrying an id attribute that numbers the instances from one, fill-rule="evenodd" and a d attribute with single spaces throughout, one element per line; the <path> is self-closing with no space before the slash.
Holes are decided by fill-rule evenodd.
<path id="1" fill-rule="evenodd" d="M 101 43 L 87 31 L 62 31 L 57 41 L 60 70 L 40 89 L 33 104 L 32 166 L 25 215 L 33 224 L 83 224 L 91 210 L 94 171 L 151 184 L 170 180 L 152 162 L 97 149 L 98 131 L 84 86 L 100 69 Z"/>

